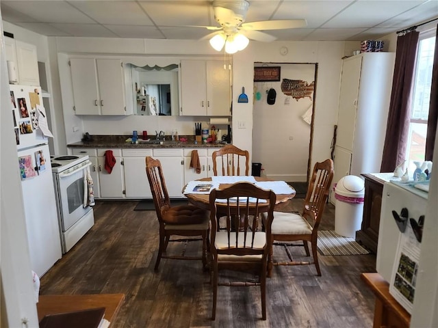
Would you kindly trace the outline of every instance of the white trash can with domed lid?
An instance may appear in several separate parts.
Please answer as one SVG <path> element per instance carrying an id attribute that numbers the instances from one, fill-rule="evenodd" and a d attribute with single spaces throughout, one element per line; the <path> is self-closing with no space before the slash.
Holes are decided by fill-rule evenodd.
<path id="1" fill-rule="evenodd" d="M 335 232 L 355 238 L 361 229 L 365 182 L 359 176 L 344 176 L 335 186 Z"/>

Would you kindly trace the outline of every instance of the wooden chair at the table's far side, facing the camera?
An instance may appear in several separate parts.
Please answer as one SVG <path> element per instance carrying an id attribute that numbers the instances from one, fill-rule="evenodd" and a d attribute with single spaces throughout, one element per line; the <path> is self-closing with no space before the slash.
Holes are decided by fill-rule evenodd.
<path id="1" fill-rule="evenodd" d="M 213 174 L 215 176 L 248 176 L 249 174 L 249 152 L 233 145 L 227 145 L 212 154 Z M 218 162 L 222 165 L 221 172 L 218 174 Z M 241 171 L 245 165 L 245 172 Z"/>

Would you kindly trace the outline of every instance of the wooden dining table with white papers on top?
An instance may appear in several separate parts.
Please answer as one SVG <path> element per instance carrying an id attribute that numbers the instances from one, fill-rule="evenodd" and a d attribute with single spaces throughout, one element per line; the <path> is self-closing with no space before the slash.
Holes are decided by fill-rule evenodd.
<path id="1" fill-rule="evenodd" d="M 285 204 L 288 200 L 292 200 L 295 197 L 296 191 L 289 184 L 284 181 L 274 181 L 268 178 L 259 177 L 259 176 L 213 176 L 210 178 L 201 178 L 199 180 L 194 180 L 188 182 L 183 188 L 183 194 L 188 198 L 189 204 L 192 204 L 198 208 L 203 208 L 205 210 L 209 210 L 209 191 L 216 188 L 218 190 L 225 189 L 230 187 L 233 183 L 237 182 L 251 182 L 257 185 L 262 189 L 271 189 L 274 191 L 276 200 L 275 200 L 275 209 L 278 210 L 281 208 L 283 204 Z M 209 186 L 203 189 L 203 185 Z M 194 191 L 194 189 L 200 189 L 201 191 Z M 218 212 L 221 212 L 221 209 L 227 208 L 227 203 L 217 203 L 216 204 Z"/>

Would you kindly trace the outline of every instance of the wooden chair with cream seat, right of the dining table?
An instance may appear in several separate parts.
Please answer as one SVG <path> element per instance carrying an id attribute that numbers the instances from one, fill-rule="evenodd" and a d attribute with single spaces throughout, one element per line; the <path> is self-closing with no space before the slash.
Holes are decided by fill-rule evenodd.
<path id="1" fill-rule="evenodd" d="M 318 228 L 321 223 L 322 213 L 329 195 L 331 180 L 333 179 L 333 161 L 327 159 L 321 163 L 315 163 L 312 176 L 309 180 L 309 187 L 304 201 L 304 208 L 301 213 L 274 212 L 272 221 L 272 234 L 270 242 L 270 254 L 268 260 L 268 277 L 272 275 L 274 265 L 302 265 L 315 264 L 318 275 L 321 275 L 320 264 L 318 263 Z M 280 241 L 282 243 L 274 243 Z M 302 241 L 300 244 L 290 243 Z M 284 243 L 287 242 L 287 243 Z M 304 246 L 306 255 L 310 256 L 309 245 L 311 243 L 313 261 L 296 262 L 287 250 L 288 262 L 274 262 L 273 245 Z"/>

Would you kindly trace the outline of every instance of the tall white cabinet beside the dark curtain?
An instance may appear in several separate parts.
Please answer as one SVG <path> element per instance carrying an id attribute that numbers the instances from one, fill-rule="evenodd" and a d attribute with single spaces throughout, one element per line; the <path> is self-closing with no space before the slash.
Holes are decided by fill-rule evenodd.
<path id="1" fill-rule="evenodd" d="M 343 61 L 333 183 L 380 172 L 395 57 L 361 53 Z"/>

